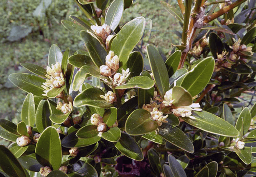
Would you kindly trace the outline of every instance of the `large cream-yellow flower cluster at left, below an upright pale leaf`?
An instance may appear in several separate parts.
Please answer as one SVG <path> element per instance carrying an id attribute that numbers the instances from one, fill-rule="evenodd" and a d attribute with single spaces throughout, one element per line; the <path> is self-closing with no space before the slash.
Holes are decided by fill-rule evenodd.
<path id="1" fill-rule="evenodd" d="M 47 92 L 54 89 L 60 88 L 65 85 L 65 79 L 61 70 L 60 63 L 52 64 L 52 67 L 47 66 L 47 74 L 45 75 L 48 79 L 43 83 L 42 87 L 44 88 L 43 96 L 46 96 Z M 57 98 L 62 97 L 62 93 L 56 96 Z"/>

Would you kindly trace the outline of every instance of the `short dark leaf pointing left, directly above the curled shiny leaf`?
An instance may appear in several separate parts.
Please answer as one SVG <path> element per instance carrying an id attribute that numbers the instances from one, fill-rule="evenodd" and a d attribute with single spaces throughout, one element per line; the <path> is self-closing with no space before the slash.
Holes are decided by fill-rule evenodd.
<path id="1" fill-rule="evenodd" d="M 84 65 L 95 66 L 90 56 L 75 54 L 68 58 L 68 62 L 73 66 L 81 68 Z"/>

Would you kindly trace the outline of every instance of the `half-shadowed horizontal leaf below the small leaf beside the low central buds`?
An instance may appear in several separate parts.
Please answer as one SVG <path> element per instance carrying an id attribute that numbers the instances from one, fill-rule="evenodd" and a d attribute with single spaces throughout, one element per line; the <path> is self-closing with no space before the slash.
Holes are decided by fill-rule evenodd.
<path id="1" fill-rule="evenodd" d="M 78 130 L 73 131 L 72 133 L 65 136 L 62 139 L 61 145 L 66 148 L 72 147 L 85 147 L 97 143 L 100 140 L 99 136 L 94 136 L 93 138 L 78 138 L 75 134 Z"/>

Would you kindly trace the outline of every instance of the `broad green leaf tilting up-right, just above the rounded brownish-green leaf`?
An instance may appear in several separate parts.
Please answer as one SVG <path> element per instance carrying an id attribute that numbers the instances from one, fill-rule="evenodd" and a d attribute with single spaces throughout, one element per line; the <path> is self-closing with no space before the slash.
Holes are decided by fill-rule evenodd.
<path id="1" fill-rule="evenodd" d="M 184 77 L 181 85 L 191 96 L 200 93 L 212 77 L 214 69 L 214 58 L 207 57 L 200 61 L 191 71 Z"/>

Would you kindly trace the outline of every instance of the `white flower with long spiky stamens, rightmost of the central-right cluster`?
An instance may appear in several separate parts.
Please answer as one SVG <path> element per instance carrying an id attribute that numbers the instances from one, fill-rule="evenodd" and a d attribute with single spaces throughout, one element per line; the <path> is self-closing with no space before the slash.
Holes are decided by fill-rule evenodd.
<path id="1" fill-rule="evenodd" d="M 179 107 L 173 108 L 171 111 L 177 117 L 189 117 L 194 119 L 194 117 L 191 116 L 192 114 L 191 111 L 202 111 L 202 109 L 200 108 L 199 103 L 192 103 L 189 106 L 179 106 Z"/>

